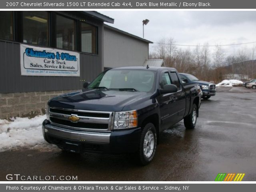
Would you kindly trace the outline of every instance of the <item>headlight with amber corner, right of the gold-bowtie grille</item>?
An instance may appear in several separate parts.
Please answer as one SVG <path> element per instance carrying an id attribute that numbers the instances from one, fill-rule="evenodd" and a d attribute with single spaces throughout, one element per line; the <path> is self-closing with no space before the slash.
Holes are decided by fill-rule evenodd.
<path id="1" fill-rule="evenodd" d="M 126 129 L 138 126 L 137 111 L 116 112 L 114 129 Z"/>

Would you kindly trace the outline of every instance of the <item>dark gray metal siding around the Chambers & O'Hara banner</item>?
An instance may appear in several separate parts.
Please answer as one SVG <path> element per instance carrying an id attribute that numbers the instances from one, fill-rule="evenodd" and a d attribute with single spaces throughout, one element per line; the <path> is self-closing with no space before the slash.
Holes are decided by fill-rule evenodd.
<path id="1" fill-rule="evenodd" d="M 98 42 L 98 55 L 80 53 L 80 77 L 63 77 L 21 76 L 20 44 L 0 40 L 0 93 L 81 89 L 102 71 L 102 26 Z"/>

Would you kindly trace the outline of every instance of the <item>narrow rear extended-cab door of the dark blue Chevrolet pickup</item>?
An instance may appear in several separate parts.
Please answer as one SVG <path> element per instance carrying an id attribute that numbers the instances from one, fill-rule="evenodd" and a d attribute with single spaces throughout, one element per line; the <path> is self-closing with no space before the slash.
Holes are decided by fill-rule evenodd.
<path id="1" fill-rule="evenodd" d="M 176 85 L 178 88 L 178 91 L 174 93 L 174 97 L 176 98 L 175 111 L 177 112 L 177 119 L 175 123 L 177 123 L 183 119 L 186 111 L 186 95 L 182 82 L 180 82 L 180 78 L 178 78 L 177 72 L 170 71 L 170 76 L 172 84 Z"/>

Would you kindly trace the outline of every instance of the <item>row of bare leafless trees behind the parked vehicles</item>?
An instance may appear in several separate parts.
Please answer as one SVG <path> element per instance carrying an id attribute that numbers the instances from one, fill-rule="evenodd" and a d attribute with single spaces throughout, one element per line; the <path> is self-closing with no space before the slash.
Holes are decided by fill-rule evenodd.
<path id="1" fill-rule="evenodd" d="M 246 48 L 238 50 L 234 55 L 225 57 L 222 46 L 216 45 L 214 49 L 208 44 L 196 46 L 193 50 L 177 48 L 174 38 L 162 38 L 153 46 L 150 52 L 151 59 L 164 59 L 166 66 L 174 67 L 179 72 L 193 74 L 199 79 L 220 82 L 224 74 L 244 74 L 256 78 L 256 46 L 248 56 Z M 249 64 L 249 65 L 248 65 Z"/>

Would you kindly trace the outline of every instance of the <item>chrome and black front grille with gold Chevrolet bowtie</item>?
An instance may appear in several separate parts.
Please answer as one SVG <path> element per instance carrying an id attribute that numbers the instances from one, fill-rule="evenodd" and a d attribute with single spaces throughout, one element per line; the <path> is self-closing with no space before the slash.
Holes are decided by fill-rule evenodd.
<path id="1" fill-rule="evenodd" d="M 52 124 L 74 130 L 109 132 L 112 129 L 113 112 L 76 110 L 50 107 Z"/>

